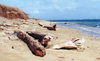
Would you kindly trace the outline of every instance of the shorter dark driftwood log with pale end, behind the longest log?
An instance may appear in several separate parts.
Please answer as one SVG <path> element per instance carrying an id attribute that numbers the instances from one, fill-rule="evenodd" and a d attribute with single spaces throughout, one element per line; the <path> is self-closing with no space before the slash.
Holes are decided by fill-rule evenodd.
<path id="1" fill-rule="evenodd" d="M 37 39 L 44 47 L 48 46 L 48 42 L 51 41 L 51 36 L 46 35 L 46 34 L 41 34 L 38 32 L 32 32 L 32 31 L 28 31 L 27 32 L 30 36 L 32 36 L 33 38 Z"/>

